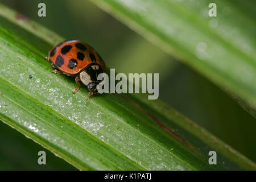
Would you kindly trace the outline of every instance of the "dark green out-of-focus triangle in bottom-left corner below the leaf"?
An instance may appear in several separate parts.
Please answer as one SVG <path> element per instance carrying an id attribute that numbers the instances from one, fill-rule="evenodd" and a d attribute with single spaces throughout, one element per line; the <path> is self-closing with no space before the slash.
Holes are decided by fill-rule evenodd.
<path id="1" fill-rule="evenodd" d="M 0 122 L 0 170 L 76 170 L 52 152 Z M 47 165 L 38 165 L 38 152 L 45 151 Z"/>

